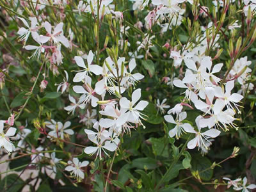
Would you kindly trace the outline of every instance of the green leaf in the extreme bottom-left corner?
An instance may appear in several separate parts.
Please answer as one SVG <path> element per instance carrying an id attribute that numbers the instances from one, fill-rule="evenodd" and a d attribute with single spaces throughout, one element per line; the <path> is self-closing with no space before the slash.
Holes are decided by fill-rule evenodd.
<path id="1" fill-rule="evenodd" d="M 10 174 L 4 177 L 0 181 L 0 189 L 1 191 L 10 191 L 10 192 L 18 192 L 24 186 L 24 181 L 22 179 L 17 178 L 19 175 Z"/>

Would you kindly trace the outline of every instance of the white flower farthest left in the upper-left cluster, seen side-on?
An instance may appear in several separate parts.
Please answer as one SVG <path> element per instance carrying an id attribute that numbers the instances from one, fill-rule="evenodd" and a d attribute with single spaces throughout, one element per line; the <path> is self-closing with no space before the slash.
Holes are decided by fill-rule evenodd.
<path id="1" fill-rule="evenodd" d="M 24 25 L 28 28 L 28 29 L 20 28 L 19 31 L 18 31 L 18 34 L 20 35 L 19 36 L 20 40 L 24 40 L 24 44 L 26 44 L 30 33 L 32 31 L 36 31 L 36 29 L 37 29 L 36 26 L 37 26 L 38 23 L 37 23 L 36 17 L 29 17 L 29 20 L 31 21 L 31 26 L 30 27 L 28 25 L 28 22 L 25 19 L 23 19 L 22 17 L 17 17 L 17 18 L 22 20 Z"/>

